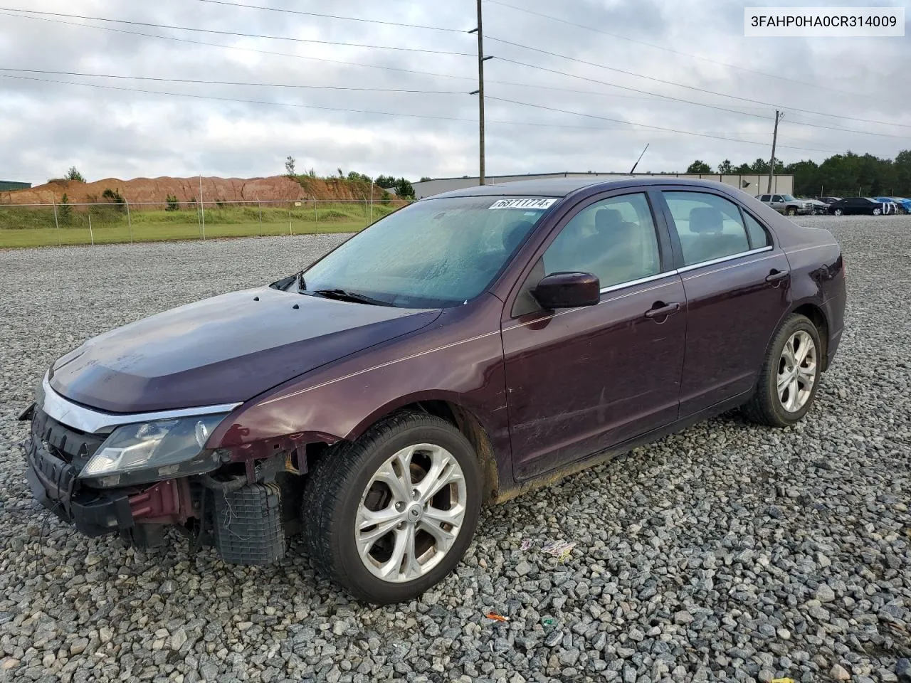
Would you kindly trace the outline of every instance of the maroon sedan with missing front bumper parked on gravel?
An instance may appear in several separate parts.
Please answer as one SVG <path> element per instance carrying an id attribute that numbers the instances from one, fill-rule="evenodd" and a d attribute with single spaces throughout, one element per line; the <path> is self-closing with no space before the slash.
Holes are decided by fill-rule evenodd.
<path id="1" fill-rule="evenodd" d="M 264 564 L 302 533 L 397 602 L 453 570 L 482 505 L 732 408 L 797 422 L 843 314 L 832 235 L 737 189 L 459 190 L 67 353 L 23 414 L 26 474 L 84 534 L 176 525 Z"/>

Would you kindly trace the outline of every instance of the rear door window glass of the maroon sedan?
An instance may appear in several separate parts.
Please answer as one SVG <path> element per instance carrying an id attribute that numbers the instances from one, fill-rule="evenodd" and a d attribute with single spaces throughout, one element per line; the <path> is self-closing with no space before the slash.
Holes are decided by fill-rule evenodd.
<path id="1" fill-rule="evenodd" d="M 741 210 L 732 201 L 706 192 L 663 194 L 680 238 L 684 265 L 750 250 Z"/>

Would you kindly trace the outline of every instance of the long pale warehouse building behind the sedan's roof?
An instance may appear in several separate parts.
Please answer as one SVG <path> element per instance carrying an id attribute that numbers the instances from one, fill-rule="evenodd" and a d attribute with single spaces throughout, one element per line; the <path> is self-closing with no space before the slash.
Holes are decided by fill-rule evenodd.
<path id="1" fill-rule="evenodd" d="M 516 182 L 517 180 L 533 180 L 542 178 L 630 178 L 629 173 L 528 173 L 521 176 L 487 176 L 487 185 L 498 185 L 500 183 Z M 714 180 L 722 182 L 725 185 L 731 185 L 734 188 L 742 189 L 744 192 L 753 195 L 764 194 L 768 187 L 768 175 L 756 173 L 636 173 L 635 178 L 693 178 L 703 180 Z M 443 192 L 449 192 L 453 189 L 474 188 L 478 184 L 478 178 L 434 178 L 424 182 L 416 182 L 415 197 L 424 199 L 433 197 Z M 794 177 L 791 175 L 773 176 L 772 191 L 779 194 L 793 194 Z"/>

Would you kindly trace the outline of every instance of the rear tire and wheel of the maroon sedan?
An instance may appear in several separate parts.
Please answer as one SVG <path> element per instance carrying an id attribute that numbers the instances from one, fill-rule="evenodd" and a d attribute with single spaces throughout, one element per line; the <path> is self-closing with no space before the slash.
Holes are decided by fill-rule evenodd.
<path id="1" fill-rule="evenodd" d="M 809 318 L 794 314 L 781 326 L 766 352 L 756 392 L 743 406 L 754 423 L 789 427 L 813 405 L 822 372 L 822 344 Z"/>

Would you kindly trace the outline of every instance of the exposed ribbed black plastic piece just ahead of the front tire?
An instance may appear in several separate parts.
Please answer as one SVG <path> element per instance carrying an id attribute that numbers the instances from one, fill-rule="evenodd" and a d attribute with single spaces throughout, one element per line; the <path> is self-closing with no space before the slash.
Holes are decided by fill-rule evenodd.
<path id="1" fill-rule="evenodd" d="M 211 495 L 215 547 L 225 562 L 271 565 L 284 557 L 278 484 L 250 484 Z"/>

